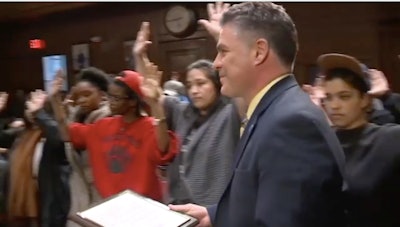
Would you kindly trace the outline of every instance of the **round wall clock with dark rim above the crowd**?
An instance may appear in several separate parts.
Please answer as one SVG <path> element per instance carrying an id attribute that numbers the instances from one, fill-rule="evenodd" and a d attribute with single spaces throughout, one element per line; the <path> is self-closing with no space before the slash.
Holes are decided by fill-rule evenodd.
<path id="1" fill-rule="evenodd" d="M 165 25 L 171 33 L 185 32 L 192 22 L 191 11 L 183 6 L 172 7 L 165 15 Z"/>

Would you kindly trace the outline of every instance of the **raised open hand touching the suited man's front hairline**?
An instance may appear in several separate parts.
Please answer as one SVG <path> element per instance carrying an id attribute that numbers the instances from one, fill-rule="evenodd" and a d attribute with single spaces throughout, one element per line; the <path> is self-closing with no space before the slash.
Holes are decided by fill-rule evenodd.
<path id="1" fill-rule="evenodd" d="M 203 25 L 208 33 L 218 40 L 219 32 L 221 30 L 220 21 L 222 15 L 226 10 L 228 10 L 230 4 L 223 2 L 216 2 L 215 4 L 207 4 L 208 20 L 200 19 L 199 24 Z"/>

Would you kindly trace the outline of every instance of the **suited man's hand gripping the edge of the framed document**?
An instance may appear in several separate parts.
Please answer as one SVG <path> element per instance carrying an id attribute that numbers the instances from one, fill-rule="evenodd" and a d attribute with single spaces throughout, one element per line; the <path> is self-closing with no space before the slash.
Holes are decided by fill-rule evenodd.
<path id="1" fill-rule="evenodd" d="M 185 205 L 169 205 L 169 208 L 199 220 L 197 227 L 211 227 L 210 216 L 205 207 L 189 203 Z"/>

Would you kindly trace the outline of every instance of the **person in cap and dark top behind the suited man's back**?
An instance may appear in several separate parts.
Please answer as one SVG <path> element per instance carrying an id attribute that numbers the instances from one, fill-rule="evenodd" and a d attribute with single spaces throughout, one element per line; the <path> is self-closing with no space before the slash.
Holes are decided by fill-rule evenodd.
<path id="1" fill-rule="evenodd" d="M 318 65 L 324 108 L 346 155 L 348 226 L 400 226 L 400 126 L 368 122 L 370 85 L 357 59 L 325 54 Z"/>

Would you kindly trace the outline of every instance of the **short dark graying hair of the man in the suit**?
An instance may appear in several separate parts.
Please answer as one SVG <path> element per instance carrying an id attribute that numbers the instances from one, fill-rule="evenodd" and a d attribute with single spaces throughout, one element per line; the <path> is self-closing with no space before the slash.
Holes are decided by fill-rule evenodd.
<path id="1" fill-rule="evenodd" d="M 233 23 L 241 32 L 264 38 L 286 66 L 292 66 L 297 50 L 296 26 L 285 9 L 271 2 L 245 2 L 231 6 L 221 25 Z"/>

